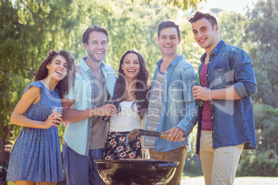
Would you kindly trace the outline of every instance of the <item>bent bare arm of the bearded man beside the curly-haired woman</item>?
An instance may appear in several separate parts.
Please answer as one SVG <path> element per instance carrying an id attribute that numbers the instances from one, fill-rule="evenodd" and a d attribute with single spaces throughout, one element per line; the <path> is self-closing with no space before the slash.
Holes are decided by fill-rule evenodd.
<path id="1" fill-rule="evenodd" d="M 65 122 L 77 122 L 77 121 L 81 121 L 83 119 L 87 119 L 89 117 L 93 117 L 95 115 L 99 115 L 99 116 L 105 116 L 105 115 L 109 115 L 111 117 L 113 117 L 114 113 L 115 113 L 115 106 L 112 104 L 105 104 L 102 107 L 99 108 L 88 108 L 85 110 L 74 110 L 71 109 L 71 106 L 74 104 L 75 100 L 73 99 L 67 99 L 67 98 L 63 98 L 62 99 L 62 106 L 64 107 L 63 109 L 63 114 L 62 114 L 62 118 L 63 121 Z"/>

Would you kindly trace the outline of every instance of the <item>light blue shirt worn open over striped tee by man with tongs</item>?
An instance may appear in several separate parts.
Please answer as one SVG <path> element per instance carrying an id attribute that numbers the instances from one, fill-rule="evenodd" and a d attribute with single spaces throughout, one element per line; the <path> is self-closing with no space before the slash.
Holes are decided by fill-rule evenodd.
<path id="1" fill-rule="evenodd" d="M 154 79 L 159 70 L 162 59 L 156 64 L 154 70 Z M 167 131 L 174 126 L 180 127 L 187 139 L 185 142 L 169 142 L 167 139 L 156 137 L 154 150 L 166 152 L 187 145 L 188 153 L 191 152 L 189 134 L 196 125 L 198 119 L 198 108 L 195 106 L 195 100 L 192 95 L 192 87 L 195 85 L 196 73 L 188 61 L 179 55 L 167 67 L 164 82 L 163 108 L 161 110 L 157 131 Z M 154 87 L 154 80 L 151 82 Z M 151 91 L 152 95 L 152 91 Z M 151 97 L 150 95 L 150 97 Z M 151 106 L 151 100 L 149 107 Z M 146 129 L 149 121 L 149 114 L 146 120 Z"/>

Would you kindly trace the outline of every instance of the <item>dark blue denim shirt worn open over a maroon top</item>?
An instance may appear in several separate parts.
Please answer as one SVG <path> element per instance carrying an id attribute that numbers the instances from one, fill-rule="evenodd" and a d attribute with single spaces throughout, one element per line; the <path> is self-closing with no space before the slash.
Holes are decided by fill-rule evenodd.
<path id="1" fill-rule="evenodd" d="M 201 72 L 206 53 L 201 57 Z M 207 66 L 207 88 L 211 90 L 228 88 L 234 85 L 234 90 L 241 99 L 210 101 L 212 118 L 212 148 L 237 146 L 245 144 L 244 149 L 256 148 L 254 129 L 254 114 L 251 96 L 257 93 L 250 56 L 241 48 L 219 44 L 210 52 Z M 203 108 L 199 108 L 198 133 L 196 153 L 199 153 L 201 119 Z"/>

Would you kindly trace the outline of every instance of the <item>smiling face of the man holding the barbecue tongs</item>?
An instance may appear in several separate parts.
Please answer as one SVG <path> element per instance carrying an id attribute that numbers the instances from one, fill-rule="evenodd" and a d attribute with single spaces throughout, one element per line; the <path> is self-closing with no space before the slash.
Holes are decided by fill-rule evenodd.
<path id="1" fill-rule="evenodd" d="M 159 44 L 161 54 L 172 56 L 176 55 L 178 52 L 178 44 L 181 41 L 181 37 L 178 38 L 178 32 L 176 28 L 169 27 L 161 30 L 160 35 L 156 40 Z"/>

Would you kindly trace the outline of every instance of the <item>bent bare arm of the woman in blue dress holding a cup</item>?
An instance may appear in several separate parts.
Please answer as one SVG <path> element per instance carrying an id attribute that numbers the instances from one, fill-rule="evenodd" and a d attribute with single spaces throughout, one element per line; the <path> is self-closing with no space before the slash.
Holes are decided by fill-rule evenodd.
<path id="1" fill-rule="evenodd" d="M 12 124 L 29 128 L 50 128 L 51 126 L 58 127 L 59 124 L 61 124 L 62 119 L 60 117 L 54 117 L 54 115 L 59 115 L 58 113 L 49 115 L 46 121 L 35 121 L 24 116 L 26 110 L 28 110 L 32 104 L 35 104 L 37 101 L 39 101 L 40 93 L 41 88 L 36 88 L 35 86 L 30 86 L 30 88 L 26 90 L 12 112 L 10 117 L 10 122 Z"/>

